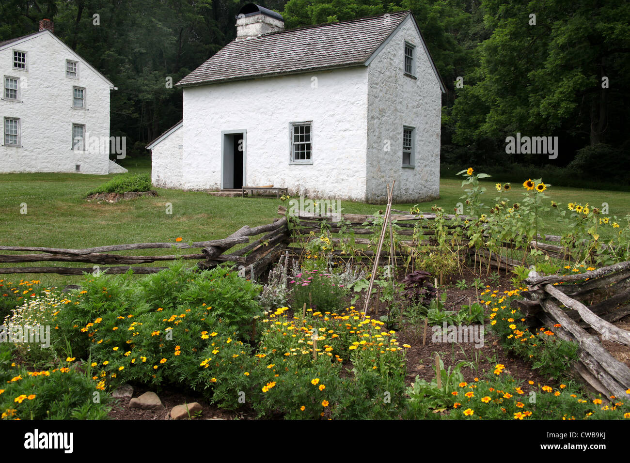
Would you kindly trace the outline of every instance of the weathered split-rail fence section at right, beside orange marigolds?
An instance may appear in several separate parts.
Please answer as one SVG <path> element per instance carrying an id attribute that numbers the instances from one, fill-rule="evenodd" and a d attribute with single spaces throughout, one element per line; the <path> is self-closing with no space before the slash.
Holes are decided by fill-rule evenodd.
<path id="1" fill-rule="evenodd" d="M 600 338 L 630 345 L 630 332 L 612 324 L 630 314 L 630 262 L 576 275 L 541 277 L 531 272 L 525 282 L 527 299 L 517 306 L 529 323 L 554 326 L 559 338 L 578 343 L 576 374 L 606 397 L 624 397 L 630 389 L 630 368 L 614 358 Z"/>

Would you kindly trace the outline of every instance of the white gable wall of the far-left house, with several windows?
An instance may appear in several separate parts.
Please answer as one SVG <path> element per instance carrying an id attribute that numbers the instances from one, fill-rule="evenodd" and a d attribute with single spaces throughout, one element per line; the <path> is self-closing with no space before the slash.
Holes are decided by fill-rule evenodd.
<path id="1" fill-rule="evenodd" d="M 27 71 L 13 69 L 13 50 L 27 52 Z M 72 123 L 84 124 L 89 137 L 110 136 L 110 86 L 79 61 L 79 79 L 66 77 L 66 59 L 76 55 L 49 32 L 0 50 L 0 77 L 20 78 L 23 103 L 0 100 L 4 117 L 20 118 L 22 147 L 0 146 L 0 172 L 75 172 L 107 174 L 108 152 L 72 151 Z M 72 108 L 72 87 L 86 89 L 86 108 Z M 4 93 L 3 93 L 4 96 Z M 105 145 L 108 147 L 108 145 Z"/>

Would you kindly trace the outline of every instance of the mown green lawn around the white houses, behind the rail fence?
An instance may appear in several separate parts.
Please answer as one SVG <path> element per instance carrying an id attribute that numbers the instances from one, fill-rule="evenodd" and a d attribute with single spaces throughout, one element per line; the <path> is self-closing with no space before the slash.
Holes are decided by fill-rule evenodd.
<path id="1" fill-rule="evenodd" d="M 130 173 L 150 173 L 147 159 L 124 159 L 121 164 Z M 278 217 L 280 204 L 276 198 L 225 198 L 214 197 L 201 191 L 179 191 L 158 188 L 158 197 L 142 197 L 115 204 L 96 204 L 85 200 L 86 193 L 112 178 L 110 175 L 85 175 L 74 173 L 50 174 L 0 174 L 0 243 L 6 246 L 42 246 L 50 248 L 91 248 L 108 244 L 146 243 L 172 241 L 206 241 L 226 237 L 244 225 L 258 226 L 270 223 Z M 495 180 L 495 179 L 491 179 Z M 497 179 L 497 181 L 500 179 Z M 494 203 L 498 196 L 494 182 L 486 182 L 486 205 Z M 520 201 L 524 190 L 513 185 L 513 190 L 502 196 L 510 201 Z M 622 191 L 580 190 L 551 187 L 546 193 L 549 200 L 561 203 L 590 203 L 600 207 L 609 204 L 609 215 L 622 217 L 630 214 L 630 193 Z M 428 212 L 433 204 L 451 212 L 461 202 L 463 194 L 460 180 L 443 179 L 440 183 L 440 199 L 420 203 L 421 210 Z M 27 214 L 21 214 L 26 203 Z M 167 203 L 172 214 L 166 214 Z M 408 210 L 413 204 L 398 203 L 394 209 Z M 358 202 L 341 202 L 345 213 L 373 214 L 385 205 Z M 544 231 L 561 234 L 562 229 L 554 219 L 558 214 L 551 210 L 542 214 Z M 189 253 L 190 250 L 178 250 Z M 130 252 L 131 253 L 131 252 Z M 135 254 L 173 253 L 171 249 L 135 251 Z M 28 263 L 23 266 L 51 266 L 59 263 Z M 149 264 L 149 266 L 161 264 Z M 63 266 L 91 267 L 88 264 L 63 263 Z M 46 285 L 60 285 L 77 280 L 77 277 L 58 275 L 16 275 L 13 279 L 42 280 Z"/>

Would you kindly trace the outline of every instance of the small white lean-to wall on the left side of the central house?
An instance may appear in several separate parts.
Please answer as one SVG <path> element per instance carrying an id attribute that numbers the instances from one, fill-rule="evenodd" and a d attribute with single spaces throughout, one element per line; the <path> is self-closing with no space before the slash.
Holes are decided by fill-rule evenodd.
<path id="1" fill-rule="evenodd" d="M 183 127 L 171 132 L 151 150 L 151 183 L 159 188 L 184 188 Z"/>

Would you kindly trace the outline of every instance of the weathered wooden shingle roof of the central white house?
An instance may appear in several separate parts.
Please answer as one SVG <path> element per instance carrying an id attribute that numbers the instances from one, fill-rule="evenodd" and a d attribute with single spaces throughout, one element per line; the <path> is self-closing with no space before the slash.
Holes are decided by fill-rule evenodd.
<path id="1" fill-rule="evenodd" d="M 232 40 L 176 85 L 182 87 L 364 64 L 411 14 L 399 11 Z"/>

